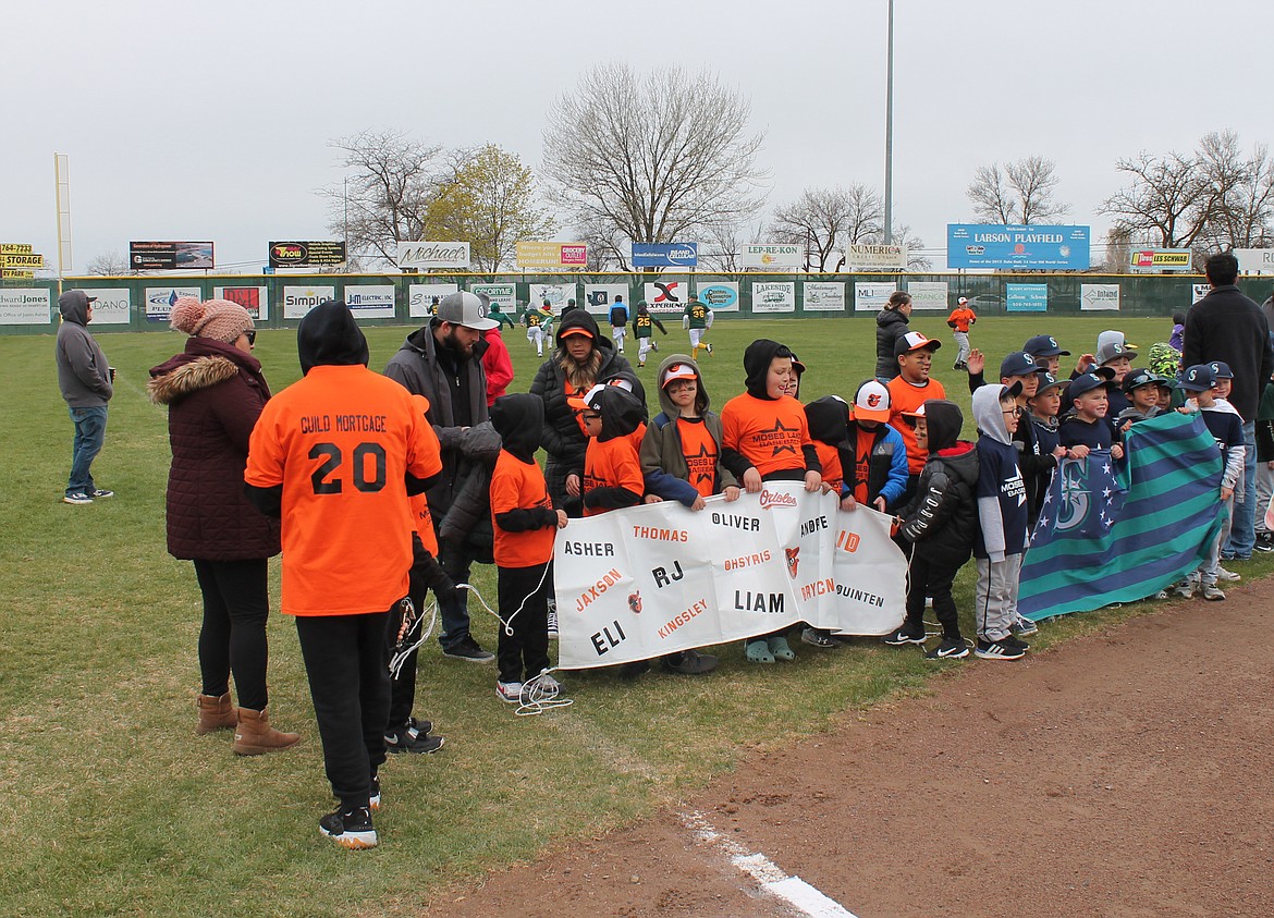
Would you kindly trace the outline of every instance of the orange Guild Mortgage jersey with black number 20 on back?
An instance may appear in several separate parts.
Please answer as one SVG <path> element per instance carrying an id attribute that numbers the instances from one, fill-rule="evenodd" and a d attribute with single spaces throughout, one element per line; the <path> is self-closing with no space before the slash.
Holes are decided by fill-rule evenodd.
<path id="1" fill-rule="evenodd" d="M 429 433 L 405 388 L 361 365 L 315 367 L 265 404 L 243 479 L 283 485 L 285 614 L 382 612 L 406 596 L 404 476 L 436 474 Z"/>

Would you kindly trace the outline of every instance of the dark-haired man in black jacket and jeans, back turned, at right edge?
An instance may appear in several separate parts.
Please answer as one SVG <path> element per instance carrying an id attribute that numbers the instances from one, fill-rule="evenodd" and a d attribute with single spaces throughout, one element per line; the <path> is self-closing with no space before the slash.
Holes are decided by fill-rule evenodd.
<path id="1" fill-rule="evenodd" d="M 1243 419 L 1243 491 L 1235 500 L 1229 540 L 1222 545 L 1223 560 L 1247 560 L 1256 544 L 1256 404 L 1274 373 L 1270 327 L 1255 300 L 1235 285 L 1238 260 L 1229 252 L 1214 255 L 1204 265 L 1212 292 L 1186 313 L 1185 350 L 1181 364 L 1192 367 L 1223 360 L 1235 373 L 1229 404 Z M 1264 511 L 1264 508 L 1261 508 Z"/>

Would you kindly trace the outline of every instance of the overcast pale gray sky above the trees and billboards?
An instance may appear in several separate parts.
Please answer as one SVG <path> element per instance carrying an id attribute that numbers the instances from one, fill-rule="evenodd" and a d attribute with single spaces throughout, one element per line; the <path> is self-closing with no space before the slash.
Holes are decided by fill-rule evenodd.
<path id="1" fill-rule="evenodd" d="M 896 0 L 896 219 L 941 248 L 972 216 L 978 166 L 1040 154 L 1096 243 L 1116 158 L 1210 130 L 1269 143 L 1269 10 Z M 340 183 L 333 138 L 489 141 L 538 167 L 549 104 L 608 61 L 707 69 L 749 97 L 771 206 L 806 186 L 883 188 L 885 0 L 59 0 L 0 20 L 0 242 L 51 265 L 55 153 L 70 157 L 76 269 L 130 239 L 213 239 L 218 265 L 248 267 L 270 239 L 330 238 L 315 190 Z"/>

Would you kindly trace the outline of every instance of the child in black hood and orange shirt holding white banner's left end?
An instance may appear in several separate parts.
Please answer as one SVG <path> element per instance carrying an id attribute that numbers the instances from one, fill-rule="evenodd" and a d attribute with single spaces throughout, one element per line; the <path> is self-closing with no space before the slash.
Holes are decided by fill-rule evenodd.
<path id="1" fill-rule="evenodd" d="M 506 395 L 490 409 L 503 448 L 490 475 L 490 519 L 496 532 L 499 629 L 496 696 L 519 704 L 536 686 L 552 691 L 548 675 L 549 592 L 553 588 L 553 535 L 566 527 L 553 509 L 544 472 L 535 461 L 544 429 L 544 401 L 529 392 Z M 512 632 L 512 633 L 510 633 Z"/>

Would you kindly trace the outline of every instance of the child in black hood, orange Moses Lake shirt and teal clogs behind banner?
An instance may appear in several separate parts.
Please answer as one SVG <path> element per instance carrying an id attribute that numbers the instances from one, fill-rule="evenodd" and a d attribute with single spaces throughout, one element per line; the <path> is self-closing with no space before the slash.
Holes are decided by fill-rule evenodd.
<path id="1" fill-rule="evenodd" d="M 805 409 L 787 395 L 795 381 L 791 350 L 758 339 L 743 353 L 743 368 L 748 391 L 721 409 L 721 461 L 749 494 L 758 493 L 763 481 L 801 481 L 805 490 L 817 491 L 823 467 Z M 749 638 L 745 647 L 754 663 L 796 658 L 781 630 Z"/>

